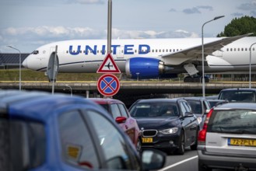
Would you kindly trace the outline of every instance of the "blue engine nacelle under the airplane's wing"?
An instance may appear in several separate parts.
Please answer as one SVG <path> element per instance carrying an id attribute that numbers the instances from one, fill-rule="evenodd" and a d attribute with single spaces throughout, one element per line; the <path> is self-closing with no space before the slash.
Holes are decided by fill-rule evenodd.
<path id="1" fill-rule="evenodd" d="M 156 79 L 163 69 L 163 61 L 156 58 L 129 58 L 125 63 L 125 73 L 132 79 Z"/>

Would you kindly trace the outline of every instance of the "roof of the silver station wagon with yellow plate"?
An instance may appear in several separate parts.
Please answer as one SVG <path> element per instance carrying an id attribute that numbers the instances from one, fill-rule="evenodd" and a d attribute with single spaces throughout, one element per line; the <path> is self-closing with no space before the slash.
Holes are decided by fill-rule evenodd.
<path id="1" fill-rule="evenodd" d="M 214 110 L 228 110 L 228 109 L 248 109 L 256 110 L 256 103 L 223 103 L 216 106 Z"/>

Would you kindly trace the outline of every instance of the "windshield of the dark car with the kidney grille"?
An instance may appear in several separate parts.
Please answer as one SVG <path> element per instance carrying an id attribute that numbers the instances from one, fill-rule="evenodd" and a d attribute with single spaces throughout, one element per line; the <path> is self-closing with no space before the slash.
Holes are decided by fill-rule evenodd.
<path id="1" fill-rule="evenodd" d="M 132 117 L 177 117 L 176 103 L 138 103 L 132 106 Z"/>

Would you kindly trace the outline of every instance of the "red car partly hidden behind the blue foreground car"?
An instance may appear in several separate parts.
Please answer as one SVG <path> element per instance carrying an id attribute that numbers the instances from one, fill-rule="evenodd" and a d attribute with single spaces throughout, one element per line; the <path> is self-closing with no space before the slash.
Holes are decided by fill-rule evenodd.
<path id="1" fill-rule="evenodd" d="M 131 117 L 124 103 L 118 99 L 101 99 L 101 98 L 90 98 L 95 103 L 103 106 L 108 113 L 114 118 L 114 120 L 119 124 L 122 130 L 128 134 L 131 138 L 132 143 L 138 152 L 141 152 L 141 132 L 137 121 Z"/>

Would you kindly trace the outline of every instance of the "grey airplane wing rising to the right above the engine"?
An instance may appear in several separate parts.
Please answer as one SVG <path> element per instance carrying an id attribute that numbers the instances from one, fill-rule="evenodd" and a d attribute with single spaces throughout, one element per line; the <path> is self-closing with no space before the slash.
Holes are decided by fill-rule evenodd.
<path id="1" fill-rule="evenodd" d="M 247 33 L 236 37 L 224 37 L 223 39 L 204 44 L 205 57 L 209 54 L 212 54 L 214 51 L 220 50 L 225 45 L 231 44 L 233 41 L 240 38 L 248 37 L 251 34 L 253 33 Z M 198 61 L 202 61 L 202 45 L 184 49 L 182 51 L 177 51 L 176 53 L 172 54 L 164 54 L 162 58 L 166 65 L 181 65 L 186 61 L 190 61 L 196 58 L 198 58 Z"/>

